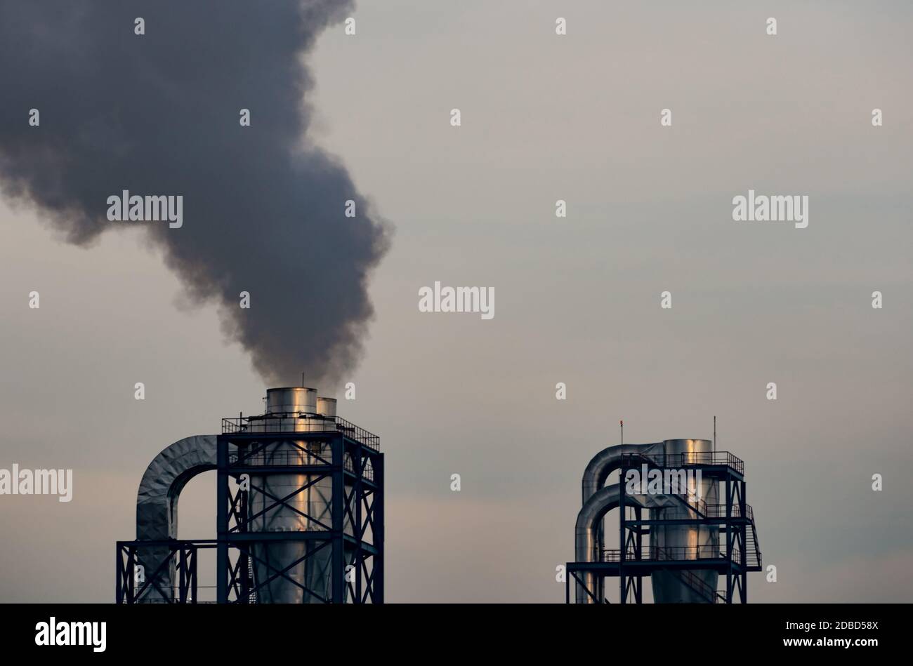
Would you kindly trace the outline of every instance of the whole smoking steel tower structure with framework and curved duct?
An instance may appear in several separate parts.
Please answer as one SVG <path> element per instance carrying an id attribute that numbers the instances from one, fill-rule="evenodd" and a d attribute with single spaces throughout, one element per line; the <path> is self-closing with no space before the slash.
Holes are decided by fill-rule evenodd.
<path id="1" fill-rule="evenodd" d="M 223 419 L 149 465 L 137 540 L 118 542 L 118 602 L 195 603 L 197 553 L 216 550 L 220 603 L 383 602 L 383 453 L 376 435 L 305 387 L 269 389 L 263 414 Z M 177 500 L 215 469 L 215 540 L 177 537 Z"/>

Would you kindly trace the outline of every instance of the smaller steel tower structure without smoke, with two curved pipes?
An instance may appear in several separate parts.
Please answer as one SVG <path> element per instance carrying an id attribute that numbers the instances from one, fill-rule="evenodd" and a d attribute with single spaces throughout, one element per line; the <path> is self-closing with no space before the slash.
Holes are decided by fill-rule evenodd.
<path id="1" fill-rule="evenodd" d="M 615 471 L 619 483 L 605 485 Z M 628 483 L 644 475 L 657 484 Z M 606 549 L 604 516 L 615 507 L 619 546 Z M 573 580 L 578 603 L 607 601 L 606 577 L 619 578 L 622 603 L 639 603 L 647 575 L 657 603 L 731 602 L 736 594 L 745 601 L 747 572 L 761 570 L 744 463 L 714 452 L 709 440 L 623 444 L 597 453 L 583 473 L 574 542 L 567 594 L 570 600 Z M 720 575 L 725 593 L 717 591 Z"/>

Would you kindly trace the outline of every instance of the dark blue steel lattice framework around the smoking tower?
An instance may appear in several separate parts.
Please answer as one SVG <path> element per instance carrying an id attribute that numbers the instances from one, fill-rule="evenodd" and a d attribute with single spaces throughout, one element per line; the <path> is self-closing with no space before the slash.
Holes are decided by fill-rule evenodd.
<path id="1" fill-rule="evenodd" d="M 277 578 L 301 588 L 311 602 L 383 603 L 383 453 L 376 436 L 341 419 L 336 420 L 338 430 L 326 432 L 248 432 L 244 421 L 247 419 L 223 420 L 223 434 L 216 443 L 216 538 L 119 541 L 117 602 L 197 603 L 198 553 L 215 548 L 216 603 L 256 603 L 257 592 Z M 285 458 L 264 455 L 280 447 L 290 454 Z M 322 453 L 328 450 L 330 455 Z M 268 473 L 302 474 L 308 481 L 290 494 L 276 496 L 250 480 Z M 290 503 L 328 478 L 332 482 L 331 524 Z M 265 498 L 256 512 L 250 505 L 252 493 Z M 307 518 L 317 528 L 299 532 L 251 529 L 257 517 L 278 506 Z M 257 548 L 278 541 L 311 543 L 304 557 L 278 569 L 262 557 L 264 549 Z M 152 570 L 138 580 L 138 551 L 148 553 L 154 547 L 162 548 L 164 556 L 152 567 L 147 563 Z M 289 576 L 289 570 L 327 548 L 331 550 L 331 580 L 324 596 Z M 348 563 L 347 551 L 352 554 Z M 172 572 L 168 579 L 176 582 L 172 589 L 162 589 L 157 582 L 166 567 Z M 268 573 L 257 579 L 257 569 Z"/>

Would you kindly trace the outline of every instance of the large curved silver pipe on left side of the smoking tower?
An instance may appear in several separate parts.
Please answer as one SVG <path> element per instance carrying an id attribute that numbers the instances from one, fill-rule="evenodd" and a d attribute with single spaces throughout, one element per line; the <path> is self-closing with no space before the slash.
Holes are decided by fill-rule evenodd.
<path id="1" fill-rule="evenodd" d="M 185 437 L 165 448 L 149 463 L 136 494 L 137 541 L 177 538 L 178 498 L 194 476 L 215 469 L 215 440 L 215 435 Z M 150 580 L 149 588 L 142 595 L 143 600 L 172 598 L 173 561 L 155 573 L 166 557 L 168 546 L 137 548 L 139 563 Z"/>

